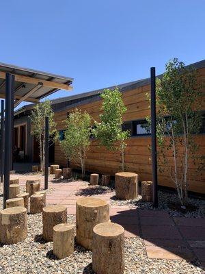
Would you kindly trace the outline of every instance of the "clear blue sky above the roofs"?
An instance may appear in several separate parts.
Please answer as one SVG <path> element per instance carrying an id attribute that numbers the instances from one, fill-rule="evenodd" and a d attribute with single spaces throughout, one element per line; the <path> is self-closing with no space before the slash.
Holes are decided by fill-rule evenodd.
<path id="1" fill-rule="evenodd" d="M 204 0 L 1 1 L 0 62 L 74 78 L 63 97 L 204 59 Z"/>

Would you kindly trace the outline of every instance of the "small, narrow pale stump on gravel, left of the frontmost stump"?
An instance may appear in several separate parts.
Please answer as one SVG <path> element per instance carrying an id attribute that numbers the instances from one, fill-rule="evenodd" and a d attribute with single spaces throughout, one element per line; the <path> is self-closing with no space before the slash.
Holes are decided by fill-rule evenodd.
<path id="1" fill-rule="evenodd" d="M 74 225 L 60 223 L 53 227 L 53 254 L 64 259 L 74 252 Z"/>

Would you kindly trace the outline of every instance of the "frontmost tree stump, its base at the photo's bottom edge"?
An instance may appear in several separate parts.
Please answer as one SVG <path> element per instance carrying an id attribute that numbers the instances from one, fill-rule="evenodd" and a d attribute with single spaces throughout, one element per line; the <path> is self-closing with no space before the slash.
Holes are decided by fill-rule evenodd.
<path id="1" fill-rule="evenodd" d="M 124 273 L 124 228 L 100 223 L 93 229 L 92 269 L 96 274 Z"/>

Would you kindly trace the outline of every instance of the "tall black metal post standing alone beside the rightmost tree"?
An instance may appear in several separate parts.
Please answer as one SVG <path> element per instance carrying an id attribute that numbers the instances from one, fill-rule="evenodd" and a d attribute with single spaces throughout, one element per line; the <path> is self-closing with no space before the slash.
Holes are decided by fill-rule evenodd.
<path id="1" fill-rule="evenodd" d="M 152 188 L 153 206 L 158 207 L 157 193 L 157 160 L 156 160 L 156 76 L 155 68 L 150 69 L 151 75 L 151 133 L 152 133 Z"/>

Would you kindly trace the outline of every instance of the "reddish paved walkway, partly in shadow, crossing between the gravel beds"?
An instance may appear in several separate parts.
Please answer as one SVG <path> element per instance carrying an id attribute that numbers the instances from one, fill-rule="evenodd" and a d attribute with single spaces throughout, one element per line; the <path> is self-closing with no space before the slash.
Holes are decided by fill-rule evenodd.
<path id="1" fill-rule="evenodd" d="M 20 184 L 24 186 L 26 179 L 26 176 L 20 176 Z M 115 195 L 115 192 L 96 193 L 85 182 L 64 183 L 53 179 L 49 182 L 49 188 L 53 188 L 53 192 L 46 196 L 46 203 L 64 205 L 68 214 L 75 214 L 76 200 L 80 197 L 92 195 L 110 203 Z M 197 258 L 205 266 L 205 219 L 171 218 L 165 211 L 137 210 L 128 206 L 111 206 L 110 216 L 111 221 L 124 227 L 126 237 L 143 239 L 148 258 Z"/>

